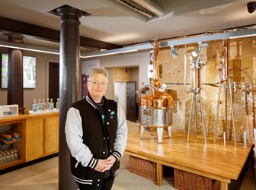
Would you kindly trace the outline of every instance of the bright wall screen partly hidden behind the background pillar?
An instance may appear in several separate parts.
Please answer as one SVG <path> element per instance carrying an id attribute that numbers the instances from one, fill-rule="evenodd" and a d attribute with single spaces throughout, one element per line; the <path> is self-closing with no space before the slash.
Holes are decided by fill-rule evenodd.
<path id="1" fill-rule="evenodd" d="M 23 87 L 36 87 L 37 59 L 32 56 L 23 56 Z M 8 87 L 8 54 L 1 55 L 1 88 Z"/>

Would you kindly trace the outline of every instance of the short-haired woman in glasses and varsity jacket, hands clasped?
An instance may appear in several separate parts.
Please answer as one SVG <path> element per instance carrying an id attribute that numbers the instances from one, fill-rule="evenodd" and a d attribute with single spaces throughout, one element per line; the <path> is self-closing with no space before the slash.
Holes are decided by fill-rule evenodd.
<path id="1" fill-rule="evenodd" d="M 110 189 L 126 147 L 127 124 L 120 105 L 107 100 L 108 74 L 91 70 L 88 95 L 70 107 L 66 141 L 71 153 L 72 176 L 79 189 Z"/>

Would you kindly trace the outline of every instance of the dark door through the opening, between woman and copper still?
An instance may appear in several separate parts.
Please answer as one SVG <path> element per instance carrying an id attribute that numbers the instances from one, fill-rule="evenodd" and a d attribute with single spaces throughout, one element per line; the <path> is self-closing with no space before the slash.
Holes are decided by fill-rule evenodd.
<path id="1" fill-rule="evenodd" d="M 126 82 L 126 119 L 136 122 L 136 81 Z"/>

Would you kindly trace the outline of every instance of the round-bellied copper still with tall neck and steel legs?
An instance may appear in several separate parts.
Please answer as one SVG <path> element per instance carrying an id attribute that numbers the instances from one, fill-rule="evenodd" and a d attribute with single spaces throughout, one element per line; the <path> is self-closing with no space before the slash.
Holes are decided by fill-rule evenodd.
<path id="1" fill-rule="evenodd" d="M 144 128 L 156 128 L 158 143 L 162 143 L 163 129 L 168 131 L 168 138 L 171 138 L 172 125 L 172 104 L 170 94 L 165 93 L 166 84 L 159 80 L 159 42 L 153 41 L 153 78 L 151 84 L 136 90 L 139 94 L 139 131 L 142 139 Z"/>

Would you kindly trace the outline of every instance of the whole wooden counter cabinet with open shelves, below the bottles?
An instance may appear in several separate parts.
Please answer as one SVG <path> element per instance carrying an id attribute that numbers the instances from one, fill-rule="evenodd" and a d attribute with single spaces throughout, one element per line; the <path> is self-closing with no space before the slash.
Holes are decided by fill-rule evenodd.
<path id="1" fill-rule="evenodd" d="M 59 152 L 59 112 L 0 117 L 0 171 Z"/>

